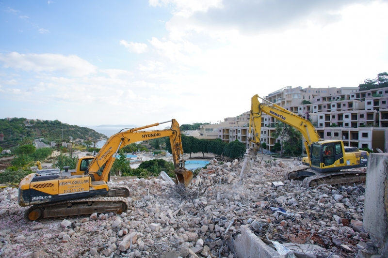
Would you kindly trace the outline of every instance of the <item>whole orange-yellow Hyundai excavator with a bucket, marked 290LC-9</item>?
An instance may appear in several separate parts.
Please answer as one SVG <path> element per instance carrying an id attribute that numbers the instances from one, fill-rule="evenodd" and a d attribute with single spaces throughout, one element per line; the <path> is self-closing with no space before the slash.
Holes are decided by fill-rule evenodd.
<path id="1" fill-rule="evenodd" d="M 170 129 L 141 131 L 170 121 Z M 20 206 L 33 205 L 26 210 L 25 219 L 126 211 L 130 189 L 126 185 L 108 185 L 109 173 L 117 152 L 142 140 L 170 137 L 176 181 L 188 186 L 193 173 L 184 167 L 179 124 L 175 119 L 170 121 L 121 130 L 106 141 L 95 157 L 80 157 L 76 169 L 38 170 L 23 178 L 19 184 L 18 203 Z"/>

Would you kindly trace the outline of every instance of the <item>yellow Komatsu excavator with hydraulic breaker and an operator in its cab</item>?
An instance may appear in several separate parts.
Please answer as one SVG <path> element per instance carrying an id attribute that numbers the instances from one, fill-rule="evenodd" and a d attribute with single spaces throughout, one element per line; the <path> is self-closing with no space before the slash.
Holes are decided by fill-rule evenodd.
<path id="1" fill-rule="evenodd" d="M 263 102 L 260 103 L 259 99 Z M 304 187 L 366 180 L 366 172 L 341 170 L 367 167 L 368 152 L 359 151 L 356 147 L 344 146 L 341 140 L 322 140 L 310 121 L 258 95 L 251 98 L 249 148 L 245 153 L 241 175 L 250 171 L 261 146 L 260 129 L 263 113 L 294 127 L 304 137 L 307 157 L 303 157 L 302 163 L 305 166 L 286 171 L 285 174 L 289 180 L 304 178 Z M 251 134 L 251 127 L 253 127 L 253 134 Z"/>

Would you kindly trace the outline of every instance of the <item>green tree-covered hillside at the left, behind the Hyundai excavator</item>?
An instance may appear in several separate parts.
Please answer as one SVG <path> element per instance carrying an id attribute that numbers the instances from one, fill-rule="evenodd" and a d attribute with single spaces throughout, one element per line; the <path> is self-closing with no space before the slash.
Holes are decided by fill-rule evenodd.
<path id="1" fill-rule="evenodd" d="M 62 139 L 69 139 L 69 136 L 74 139 L 100 139 L 106 137 L 103 134 L 97 133 L 95 130 L 80 127 L 78 125 L 70 125 L 62 123 L 61 121 L 42 121 L 42 120 L 28 120 L 25 118 L 13 118 L 11 121 L 7 119 L 0 119 L 0 133 L 4 134 L 4 141 L 0 141 L 0 146 L 9 141 L 20 140 L 21 137 L 42 137 L 49 141 Z"/>

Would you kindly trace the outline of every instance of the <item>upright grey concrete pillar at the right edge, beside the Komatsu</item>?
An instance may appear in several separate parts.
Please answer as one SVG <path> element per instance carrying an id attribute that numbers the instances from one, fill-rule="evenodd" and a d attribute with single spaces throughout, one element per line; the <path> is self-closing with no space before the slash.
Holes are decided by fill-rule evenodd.
<path id="1" fill-rule="evenodd" d="M 388 153 L 369 154 L 362 225 L 381 257 L 388 257 Z"/>

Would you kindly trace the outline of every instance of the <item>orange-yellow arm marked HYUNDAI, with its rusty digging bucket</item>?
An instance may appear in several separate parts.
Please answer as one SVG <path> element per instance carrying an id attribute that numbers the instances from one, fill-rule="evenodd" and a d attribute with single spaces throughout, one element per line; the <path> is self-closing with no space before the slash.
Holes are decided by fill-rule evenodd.
<path id="1" fill-rule="evenodd" d="M 177 175 L 178 182 L 187 186 L 193 179 L 193 173 L 184 167 L 182 140 L 178 122 L 175 119 L 171 120 L 170 129 L 140 131 L 166 122 L 170 121 L 129 129 L 111 136 L 92 160 L 86 173 L 89 173 L 92 181 L 107 182 L 110 170 L 120 149 L 142 140 L 169 137 L 175 167 L 174 172 Z"/>

